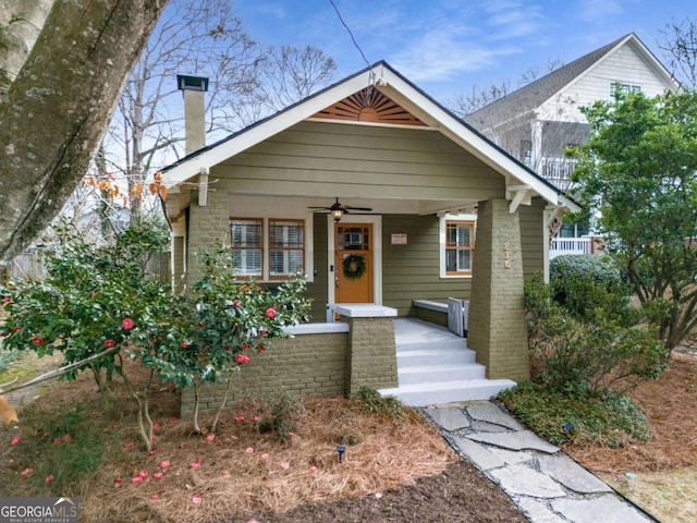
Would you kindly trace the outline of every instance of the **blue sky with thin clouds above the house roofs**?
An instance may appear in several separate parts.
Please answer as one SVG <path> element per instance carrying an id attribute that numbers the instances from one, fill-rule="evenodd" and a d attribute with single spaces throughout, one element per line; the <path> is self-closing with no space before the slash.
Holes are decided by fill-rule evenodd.
<path id="1" fill-rule="evenodd" d="M 387 60 L 441 102 L 473 84 L 530 66 L 567 63 L 627 33 L 662 58 L 656 40 L 672 20 L 697 19 L 694 0 L 334 0 L 368 62 Z M 366 66 L 329 0 L 234 0 L 260 44 L 313 45 L 340 80 Z"/>

